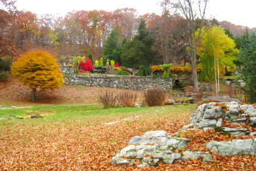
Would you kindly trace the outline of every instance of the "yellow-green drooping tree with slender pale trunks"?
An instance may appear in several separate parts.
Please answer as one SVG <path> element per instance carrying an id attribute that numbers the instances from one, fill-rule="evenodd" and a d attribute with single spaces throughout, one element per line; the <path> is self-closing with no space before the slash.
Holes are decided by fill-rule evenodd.
<path id="1" fill-rule="evenodd" d="M 205 27 L 202 29 L 205 31 Z M 198 31 L 196 32 L 196 35 Z M 197 55 L 201 57 L 202 71 L 200 80 L 216 82 L 216 95 L 220 92 L 220 78 L 225 74 L 225 68 L 235 68 L 238 50 L 235 42 L 225 34 L 225 30 L 214 26 L 205 32 L 197 48 Z"/>

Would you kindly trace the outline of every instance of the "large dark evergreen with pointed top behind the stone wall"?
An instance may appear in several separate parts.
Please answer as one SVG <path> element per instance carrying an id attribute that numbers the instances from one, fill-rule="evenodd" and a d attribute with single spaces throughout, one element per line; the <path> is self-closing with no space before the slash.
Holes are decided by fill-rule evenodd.
<path id="1" fill-rule="evenodd" d="M 160 56 L 152 50 L 154 38 L 149 35 L 144 19 L 141 19 L 139 34 L 134 39 L 124 44 L 121 54 L 121 62 L 127 67 L 139 68 L 157 63 Z"/>

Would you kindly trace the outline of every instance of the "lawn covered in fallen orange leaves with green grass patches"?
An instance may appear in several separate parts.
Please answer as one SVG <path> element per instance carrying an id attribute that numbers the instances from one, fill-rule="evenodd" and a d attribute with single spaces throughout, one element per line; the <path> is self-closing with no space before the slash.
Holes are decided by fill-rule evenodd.
<path id="1" fill-rule="evenodd" d="M 100 105 L 38 105 L 30 109 L 1 110 L 26 116 L 26 112 L 51 111 L 43 119 L 10 119 L 0 122 L 0 170 L 140 170 L 135 165 L 113 166 L 111 158 L 128 145 L 133 136 L 147 131 L 177 132 L 196 108 L 161 106 L 101 109 Z M 131 118 L 130 120 L 123 120 Z M 134 117 L 140 116 L 140 117 Z M 105 125 L 113 121 L 116 124 Z M 209 138 L 212 136 L 212 138 Z M 229 140 L 218 133 L 184 133 L 192 144 L 185 147 L 206 150 L 200 143 L 209 139 Z M 213 162 L 200 160 L 160 164 L 143 170 L 255 170 L 255 156 L 221 157 Z M 138 161 L 139 162 L 139 161 Z"/>

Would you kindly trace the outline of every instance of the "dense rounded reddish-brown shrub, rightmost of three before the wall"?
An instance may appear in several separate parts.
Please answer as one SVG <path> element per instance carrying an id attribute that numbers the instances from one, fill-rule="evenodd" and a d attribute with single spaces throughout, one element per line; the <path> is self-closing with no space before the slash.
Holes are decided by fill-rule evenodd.
<path id="1" fill-rule="evenodd" d="M 165 95 L 162 89 L 149 88 L 147 91 L 145 91 L 144 98 L 148 106 L 157 106 L 164 103 Z"/>

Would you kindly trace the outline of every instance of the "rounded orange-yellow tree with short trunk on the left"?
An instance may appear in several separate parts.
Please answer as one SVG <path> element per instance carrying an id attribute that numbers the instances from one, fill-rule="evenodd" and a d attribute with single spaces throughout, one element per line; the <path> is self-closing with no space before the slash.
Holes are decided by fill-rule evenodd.
<path id="1" fill-rule="evenodd" d="M 63 74 L 59 70 L 54 56 L 44 51 L 30 51 L 11 66 L 11 74 L 32 89 L 33 101 L 36 88 L 56 89 L 62 86 Z"/>

